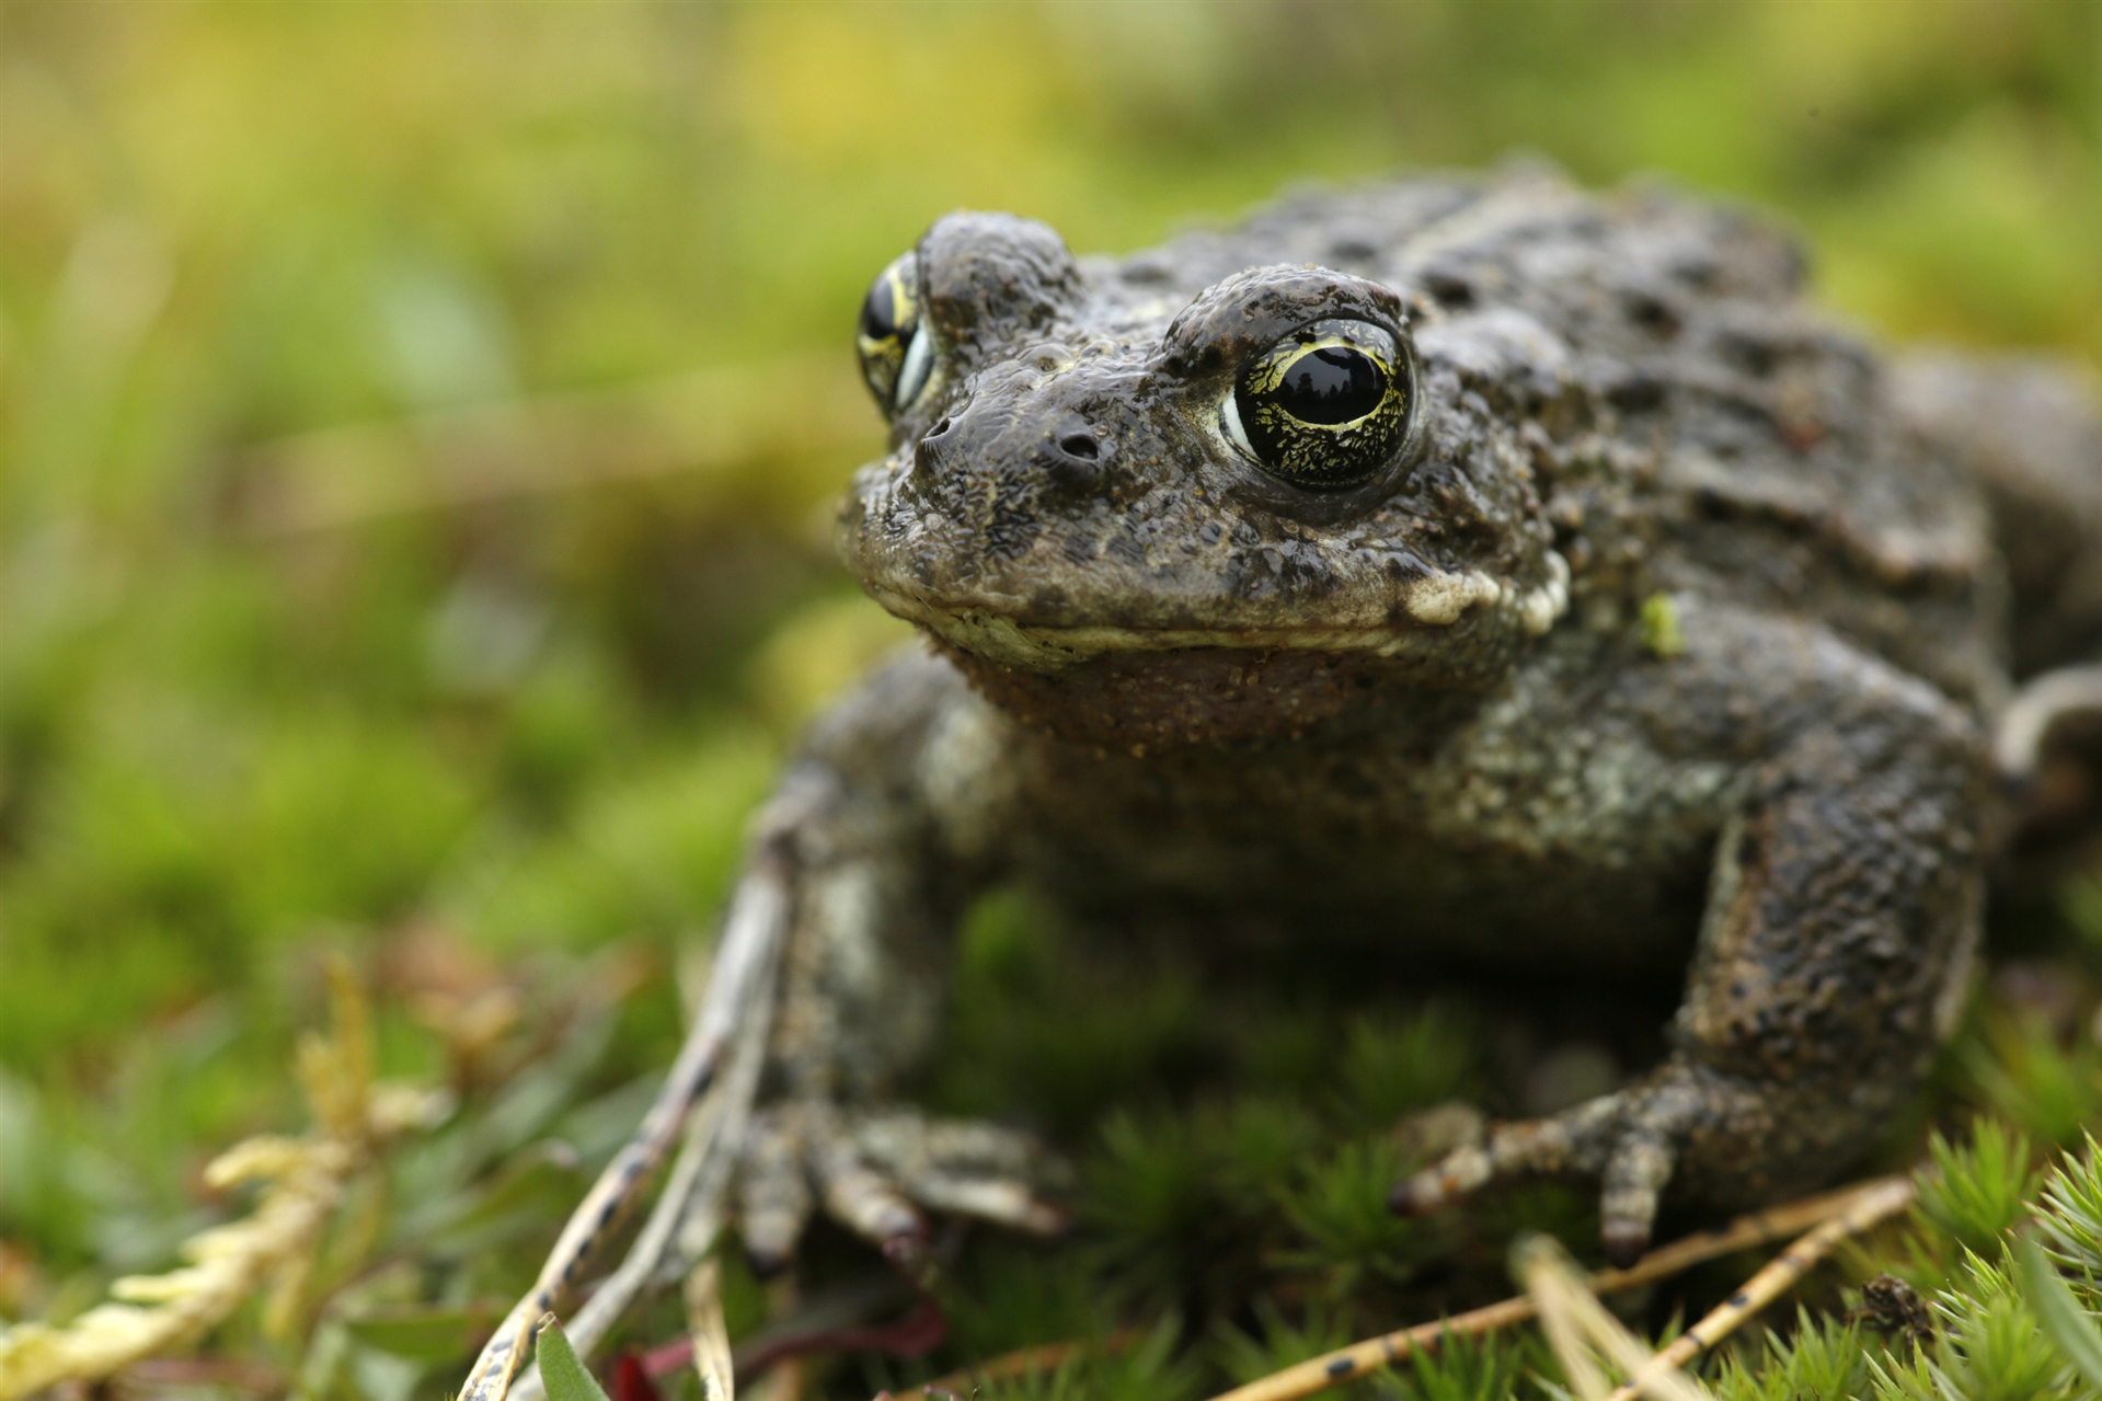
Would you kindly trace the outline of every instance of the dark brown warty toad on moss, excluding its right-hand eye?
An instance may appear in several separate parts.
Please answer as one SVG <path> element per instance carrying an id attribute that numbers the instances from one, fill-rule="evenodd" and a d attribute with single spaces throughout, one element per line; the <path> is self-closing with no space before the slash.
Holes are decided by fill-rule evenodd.
<path id="1" fill-rule="evenodd" d="M 761 1237 L 792 1237 L 780 1174 L 853 1159 L 813 1106 L 923 1054 L 946 926 L 1005 877 L 1095 919 L 1688 970 L 1665 1064 L 1406 1205 L 1591 1172 L 1627 1254 L 1667 1182 L 1770 1199 L 1879 1132 L 1967 987 L 1982 726 L 2014 665 L 2102 639 L 2102 431 L 2068 381 L 1896 374 L 1770 227 L 1539 175 L 1310 196 L 1125 263 L 954 217 L 914 278 L 933 368 L 843 547 L 937 652 L 784 787 Z M 1268 473 L 1223 408 L 1318 318 L 1410 374 L 1406 446 L 1337 490 Z"/>

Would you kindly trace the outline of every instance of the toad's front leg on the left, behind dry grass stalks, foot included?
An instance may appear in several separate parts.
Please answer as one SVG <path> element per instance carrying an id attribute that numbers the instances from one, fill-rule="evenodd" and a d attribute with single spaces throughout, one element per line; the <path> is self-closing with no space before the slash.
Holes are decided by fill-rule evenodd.
<path id="1" fill-rule="evenodd" d="M 740 1172 L 761 1268 L 790 1258 L 820 1207 L 900 1262 L 925 1239 L 921 1207 L 1059 1224 L 1028 1186 L 1045 1155 L 1026 1136 L 889 1102 L 933 1041 L 956 911 L 1001 862 L 998 768 L 984 703 L 946 663 L 912 656 L 813 730 L 759 820 L 755 854 L 780 860 L 790 892 Z"/>

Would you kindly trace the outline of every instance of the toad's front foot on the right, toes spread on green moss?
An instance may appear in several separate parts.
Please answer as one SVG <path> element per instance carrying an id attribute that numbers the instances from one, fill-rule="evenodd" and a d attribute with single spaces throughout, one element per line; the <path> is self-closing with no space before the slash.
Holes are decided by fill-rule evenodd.
<path id="1" fill-rule="evenodd" d="M 1606 1256 L 1631 1264 L 1650 1243 L 1656 1201 L 1673 1172 L 1703 1182 L 1751 1184 L 1772 1155 L 1774 1113 L 1745 1081 L 1673 1062 L 1642 1085 L 1547 1119 L 1499 1123 L 1488 1140 L 1446 1153 L 1394 1189 L 1396 1212 L 1419 1216 L 1511 1178 L 1598 1176 Z"/>

